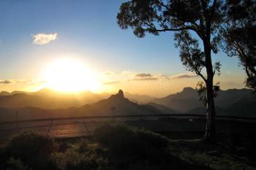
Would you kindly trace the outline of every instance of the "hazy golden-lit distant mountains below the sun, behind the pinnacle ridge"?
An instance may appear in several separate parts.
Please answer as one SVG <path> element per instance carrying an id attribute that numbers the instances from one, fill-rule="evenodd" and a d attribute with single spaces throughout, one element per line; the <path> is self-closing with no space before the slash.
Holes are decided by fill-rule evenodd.
<path id="1" fill-rule="evenodd" d="M 139 94 L 126 94 L 131 101 L 146 103 L 153 99 L 151 96 Z M 55 90 L 42 88 L 37 92 L 13 91 L 0 93 L 0 107 L 40 107 L 43 109 L 64 109 L 68 107 L 81 107 L 84 104 L 92 104 L 96 101 L 108 98 L 109 93 L 59 93 Z"/>

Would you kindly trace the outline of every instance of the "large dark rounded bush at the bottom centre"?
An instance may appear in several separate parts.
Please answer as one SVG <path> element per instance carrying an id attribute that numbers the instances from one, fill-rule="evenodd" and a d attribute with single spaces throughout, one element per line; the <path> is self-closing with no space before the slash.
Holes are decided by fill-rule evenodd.
<path id="1" fill-rule="evenodd" d="M 163 161 L 168 146 L 164 136 L 122 124 L 100 126 L 94 131 L 94 139 L 108 149 L 113 162 L 123 165 Z"/>

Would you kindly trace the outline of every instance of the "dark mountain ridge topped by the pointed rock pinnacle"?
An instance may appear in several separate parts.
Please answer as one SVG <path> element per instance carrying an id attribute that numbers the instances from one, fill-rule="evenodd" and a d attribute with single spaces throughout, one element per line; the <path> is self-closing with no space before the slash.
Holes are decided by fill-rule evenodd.
<path id="1" fill-rule="evenodd" d="M 16 95 L 26 96 L 26 94 Z M 122 90 L 107 99 L 97 101 L 94 104 L 85 104 L 83 107 L 69 107 L 67 109 L 41 109 L 38 107 L 7 109 L 0 107 L 0 120 L 15 120 L 16 110 L 18 111 L 18 119 L 113 115 L 113 113 L 115 115 L 163 114 L 163 112 L 151 105 L 140 105 L 129 101 L 129 99 L 124 98 Z"/>

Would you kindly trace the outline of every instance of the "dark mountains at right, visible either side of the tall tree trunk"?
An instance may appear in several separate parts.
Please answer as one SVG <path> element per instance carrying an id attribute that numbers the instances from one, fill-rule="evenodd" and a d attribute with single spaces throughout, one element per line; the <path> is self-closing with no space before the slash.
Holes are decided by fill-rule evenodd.
<path id="1" fill-rule="evenodd" d="M 250 89 L 219 90 L 214 101 L 217 115 L 256 117 L 256 94 Z M 153 102 L 186 114 L 206 114 L 206 108 L 199 101 L 197 90 L 193 88 L 184 88 L 179 93 L 155 98 Z"/>

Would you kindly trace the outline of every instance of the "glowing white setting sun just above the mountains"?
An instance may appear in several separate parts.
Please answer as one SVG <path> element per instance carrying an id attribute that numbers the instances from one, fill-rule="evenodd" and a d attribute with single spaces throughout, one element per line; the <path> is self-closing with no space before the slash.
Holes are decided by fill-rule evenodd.
<path id="1" fill-rule="evenodd" d="M 93 72 L 80 61 L 59 58 L 50 63 L 43 75 L 46 87 L 61 92 L 76 93 L 81 90 L 97 90 L 100 83 Z"/>

